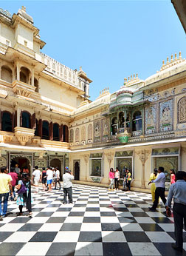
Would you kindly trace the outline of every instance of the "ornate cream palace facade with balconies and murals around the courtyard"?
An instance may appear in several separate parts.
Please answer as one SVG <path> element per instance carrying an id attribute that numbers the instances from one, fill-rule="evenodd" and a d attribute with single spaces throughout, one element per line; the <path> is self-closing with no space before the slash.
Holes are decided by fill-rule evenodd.
<path id="1" fill-rule="evenodd" d="M 24 7 L 0 9 L 1 166 L 64 166 L 80 181 L 108 183 L 110 167 L 131 169 L 148 188 L 155 167 L 186 169 L 186 61 L 171 55 L 145 80 L 124 79 L 89 101 L 80 70 L 41 53 L 44 41 Z M 168 181 L 168 179 L 167 179 Z"/>

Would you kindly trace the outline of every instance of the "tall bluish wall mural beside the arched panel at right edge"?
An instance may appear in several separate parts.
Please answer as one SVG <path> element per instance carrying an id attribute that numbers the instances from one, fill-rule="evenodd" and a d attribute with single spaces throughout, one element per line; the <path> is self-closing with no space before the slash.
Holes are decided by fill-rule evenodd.
<path id="1" fill-rule="evenodd" d="M 159 103 L 159 132 L 173 129 L 173 100 Z"/>

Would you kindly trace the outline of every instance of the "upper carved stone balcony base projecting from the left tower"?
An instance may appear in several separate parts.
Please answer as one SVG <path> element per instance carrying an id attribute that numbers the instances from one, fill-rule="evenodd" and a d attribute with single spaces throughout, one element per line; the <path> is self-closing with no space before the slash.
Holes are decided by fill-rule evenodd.
<path id="1" fill-rule="evenodd" d="M 13 81 L 13 92 L 17 95 L 30 98 L 32 93 L 35 92 L 35 86 L 15 80 Z"/>

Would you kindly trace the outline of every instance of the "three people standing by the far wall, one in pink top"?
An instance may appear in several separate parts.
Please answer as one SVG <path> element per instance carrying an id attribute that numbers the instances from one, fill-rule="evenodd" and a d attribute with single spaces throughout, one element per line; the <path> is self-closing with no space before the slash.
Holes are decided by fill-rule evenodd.
<path id="1" fill-rule="evenodd" d="M 116 167 L 115 171 L 111 167 L 108 177 L 111 182 L 108 186 L 108 190 L 114 190 L 114 184 L 115 184 L 115 189 L 117 190 L 119 188 L 119 181 L 120 181 L 120 171 L 118 167 Z M 126 168 L 123 174 L 123 184 L 126 184 L 128 191 L 131 190 L 131 179 L 132 179 L 131 172 Z"/>

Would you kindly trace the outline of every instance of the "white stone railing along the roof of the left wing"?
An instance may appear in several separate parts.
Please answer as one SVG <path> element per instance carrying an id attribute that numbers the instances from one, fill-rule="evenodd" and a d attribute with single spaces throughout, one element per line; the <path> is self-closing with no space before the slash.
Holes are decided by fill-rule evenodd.
<path id="1" fill-rule="evenodd" d="M 49 71 L 53 75 L 57 76 L 58 78 L 72 84 L 75 87 L 79 87 L 79 81 L 77 78 L 77 71 L 72 70 L 69 67 L 61 64 L 58 61 L 55 61 L 54 58 L 49 57 L 48 55 L 41 53 L 43 58 L 44 64 L 47 65 L 46 71 Z"/>

